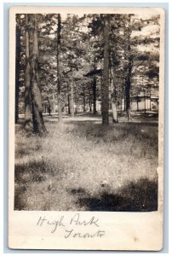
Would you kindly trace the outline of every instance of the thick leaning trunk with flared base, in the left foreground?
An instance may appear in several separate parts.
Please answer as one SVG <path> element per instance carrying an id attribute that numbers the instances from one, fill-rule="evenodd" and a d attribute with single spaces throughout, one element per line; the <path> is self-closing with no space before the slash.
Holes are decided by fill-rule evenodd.
<path id="1" fill-rule="evenodd" d="M 43 107 L 41 90 L 38 79 L 38 38 L 37 38 L 37 15 L 31 15 L 30 27 L 30 60 L 31 60 L 31 95 L 32 95 L 32 123 L 33 132 L 43 135 L 47 130 L 43 122 Z"/>

